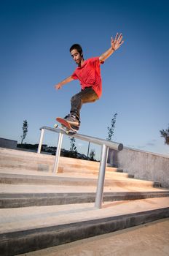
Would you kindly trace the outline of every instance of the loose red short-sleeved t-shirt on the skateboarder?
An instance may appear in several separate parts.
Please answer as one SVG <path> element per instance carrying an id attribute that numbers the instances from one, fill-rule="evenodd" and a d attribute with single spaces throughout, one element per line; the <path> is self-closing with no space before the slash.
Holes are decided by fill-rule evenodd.
<path id="1" fill-rule="evenodd" d="M 76 67 L 71 78 L 80 81 L 82 90 L 92 86 L 98 97 L 101 97 L 101 62 L 99 61 L 99 57 L 85 60 L 81 67 Z"/>

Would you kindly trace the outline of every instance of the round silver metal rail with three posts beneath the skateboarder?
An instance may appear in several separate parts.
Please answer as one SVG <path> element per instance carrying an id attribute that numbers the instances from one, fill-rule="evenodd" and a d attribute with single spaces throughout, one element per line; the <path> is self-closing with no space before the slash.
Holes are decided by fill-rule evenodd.
<path id="1" fill-rule="evenodd" d="M 58 136 L 58 146 L 57 146 L 57 151 L 55 155 L 55 164 L 53 168 L 53 172 L 58 172 L 58 165 L 59 165 L 59 157 L 60 157 L 60 150 L 61 150 L 61 145 L 62 145 L 62 140 L 63 140 L 63 135 L 66 135 L 65 132 L 63 132 L 60 129 L 57 128 L 51 128 L 51 127 L 41 127 L 41 136 L 39 140 L 39 147 L 38 147 L 38 153 L 40 154 L 41 148 L 42 148 L 42 142 L 44 138 L 44 130 L 48 130 L 51 132 L 57 132 L 59 134 Z M 95 196 L 95 207 L 96 208 L 101 208 L 102 200 L 103 200 L 103 186 L 104 186 L 104 178 L 105 178 L 105 172 L 106 172 L 106 162 L 107 162 L 107 156 L 108 156 L 108 151 L 109 148 L 112 148 L 117 151 L 121 151 L 123 148 L 122 143 L 116 143 L 112 142 L 109 140 L 102 140 L 99 138 L 95 137 L 90 137 L 87 135 L 81 135 L 81 134 L 74 134 L 74 135 L 68 135 L 69 137 L 72 136 L 74 138 L 77 138 L 79 140 L 86 140 L 90 143 L 95 143 L 98 145 L 102 146 L 101 150 L 101 162 L 100 162 L 100 167 L 99 167 L 99 174 L 98 174 L 98 186 L 97 186 L 97 191 L 96 191 L 96 196 Z"/>

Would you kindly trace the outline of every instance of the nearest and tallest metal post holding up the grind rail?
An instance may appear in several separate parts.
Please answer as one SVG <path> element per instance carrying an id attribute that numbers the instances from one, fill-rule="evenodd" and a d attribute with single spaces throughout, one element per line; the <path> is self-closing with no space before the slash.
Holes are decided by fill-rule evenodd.
<path id="1" fill-rule="evenodd" d="M 104 186 L 104 178 L 106 172 L 106 162 L 107 162 L 107 154 L 108 154 L 108 147 L 103 144 L 102 151 L 101 151 L 101 162 L 99 168 L 99 175 L 98 175 L 98 187 L 95 196 L 95 207 L 101 208 L 102 200 L 103 200 L 103 186 Z"/>

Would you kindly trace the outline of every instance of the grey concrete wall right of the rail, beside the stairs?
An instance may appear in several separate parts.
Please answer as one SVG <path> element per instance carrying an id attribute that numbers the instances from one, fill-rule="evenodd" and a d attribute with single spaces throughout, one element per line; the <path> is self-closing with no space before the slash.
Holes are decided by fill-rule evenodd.
<path id="1" fill-rule="evenodd" d="M 108 163 L 133 174 L 135 178 L 160 181 L 162 187 L 169 188 L 169 157 L 123 148 L 122 151 L 109 149 Z"/>

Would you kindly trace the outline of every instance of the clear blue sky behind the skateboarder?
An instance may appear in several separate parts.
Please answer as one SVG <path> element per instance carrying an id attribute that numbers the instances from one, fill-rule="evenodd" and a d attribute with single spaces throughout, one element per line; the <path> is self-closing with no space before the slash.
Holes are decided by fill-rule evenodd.
<path id="1" fill-rule="evenodd" d="M 20 143 L 27 119 L 25 142 L 38 143 L 39 128 L 65 116 L 80 89 L 78 81 L 54 89 L 76 68 L 70 46 L 81 44 L 84 59 L 100 56 L 119 31 L 125 43 L 102 65 L 103 96 L 82 106 L 80 133 L 107 138 L 117 113 L 115 141 L 168 155 L 160 137 L 169 124 L 168 10 L 164 0 L 1 1 L 0 137 Z M 55 146 L 57 140 L 47 133 L 44 143 Z M 86 143 L 76 146 L 86 153 Z"/>

